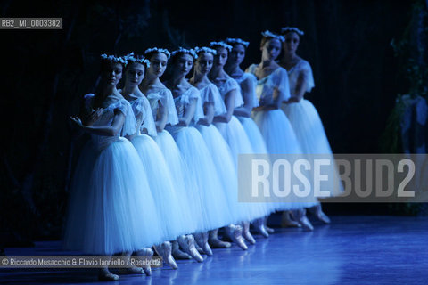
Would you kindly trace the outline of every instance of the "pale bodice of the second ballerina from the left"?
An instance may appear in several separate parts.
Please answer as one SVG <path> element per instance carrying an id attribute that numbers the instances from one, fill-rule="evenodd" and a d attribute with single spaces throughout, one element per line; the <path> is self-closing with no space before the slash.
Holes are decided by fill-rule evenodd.
<path id="1" fill-rule="evenodd" d="M 131 98 L 129 103 L 132 106 L 134 115 L 136 116 L 137 122 L 142 122 L 141 126 L 137 126 L 137 131 L 141 134 L 144 133 L 144 129 L 149 135 L 156 135 L 156 125 L 152 115 L 152 108 L 150 102 L 144 95 Z"/>

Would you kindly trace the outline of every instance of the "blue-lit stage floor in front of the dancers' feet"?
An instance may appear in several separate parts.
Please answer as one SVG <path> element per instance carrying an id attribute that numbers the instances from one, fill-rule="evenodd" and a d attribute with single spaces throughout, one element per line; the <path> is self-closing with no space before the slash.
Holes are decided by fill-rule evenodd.
<path id="1" fill-rule="evenodd" d="M 120 275 L 97 281 L 96 270 L 0 269 L 1 284 L 426 284 L 428 217 L 332 216 L 314 232 L 276 229 L 256 235 L 247 251 L 215 249 L 203 263 L 178 260 L 178 269 L 152 276 Z M 7 256 L 70 256 L 60 241 L 34 248 L 5 248 Z"/>

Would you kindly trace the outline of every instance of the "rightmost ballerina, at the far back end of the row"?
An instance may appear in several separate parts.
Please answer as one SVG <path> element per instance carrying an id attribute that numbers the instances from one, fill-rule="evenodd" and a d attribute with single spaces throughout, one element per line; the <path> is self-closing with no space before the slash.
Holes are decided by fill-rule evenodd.
<path id="1" fill-rule="evenodd" d="M 288 70 L 291 92 L 291 97 L 283 102 L 281 108 L 290 119 L 302 151 L 309 161 L 314 159 L 311 154 L 323 154 L 328 156 L 331 161 L 334 161 L 321 118 L 319 118 L 314 105 L 303 98 L 304 94 L 310 92 L 315 86 L 309 62 L 300 58 L 296 53 L 300 43 L 300 36 L 303 36 L 304 33 L 299 28 L 294 27 L 282 28 L 281 32 L 285 40 L 283 43 L 284 56 L 279 61 L 279 64 Z M 317 138 L 316 141 L 314 141 L 314 137 Z M 333 183 L 338 182 L 333 180 L 331 182 L 322 191 L 333 191 L 334 187 L 337 187 Z M 342 191 L 341 189 L 339 188 L 339 191 Z M 337 195 L 338 192 L 335 194 Z M 320 221 L 330 224 L 330 219 L 323 212 L 320 203 L 309 208 L 309 211 Z"/>

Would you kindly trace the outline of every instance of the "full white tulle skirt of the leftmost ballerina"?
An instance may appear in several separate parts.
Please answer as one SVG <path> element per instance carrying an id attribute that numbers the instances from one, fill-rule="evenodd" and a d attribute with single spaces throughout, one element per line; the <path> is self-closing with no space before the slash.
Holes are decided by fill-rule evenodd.
<path id="1" fill-rule="evenodd" d="M 128 140 L 99 152 L 87 146 L 71 191 L 67 249 L 108 256 L 164 240 L 144 167 Z"/>

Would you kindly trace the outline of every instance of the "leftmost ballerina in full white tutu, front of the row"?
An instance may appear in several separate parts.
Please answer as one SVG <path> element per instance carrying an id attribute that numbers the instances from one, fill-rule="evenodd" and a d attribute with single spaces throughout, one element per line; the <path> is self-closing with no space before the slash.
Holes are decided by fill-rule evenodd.
<path id="1" fill-rule="evenodd" d="M 124 63 L 102 55 L 100 91 L 84 97 L 84 113 L 90 115 L 71 118 L 91 134 L 92 144 L 73 178 L 64 242 L 66 248 L 91 255 L 137 252 L 164 239 L 144 167 L 132 144 L 121 137 L 136 131 L 132 108 L 116 89 Z M 98 278 L 119 280 L 108 267 Z"/>

